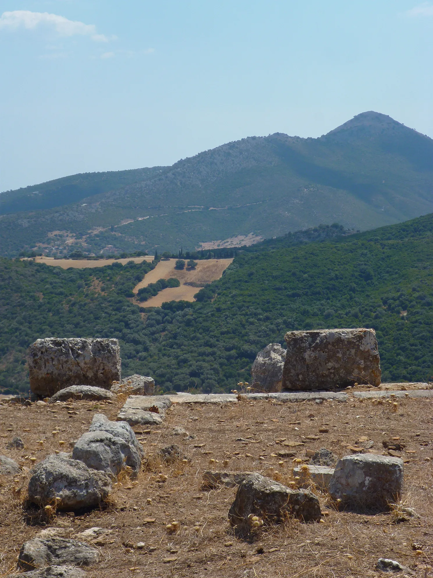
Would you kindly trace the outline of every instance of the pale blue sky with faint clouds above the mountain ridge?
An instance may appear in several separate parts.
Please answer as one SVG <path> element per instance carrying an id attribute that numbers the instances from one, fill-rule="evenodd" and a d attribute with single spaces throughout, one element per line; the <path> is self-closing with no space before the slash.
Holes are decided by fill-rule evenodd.
<path id="1" fill-rule="evenodd" d="M 0 0 L 0 190 L 365 110 L 433 137 L 433 1 Z"/>

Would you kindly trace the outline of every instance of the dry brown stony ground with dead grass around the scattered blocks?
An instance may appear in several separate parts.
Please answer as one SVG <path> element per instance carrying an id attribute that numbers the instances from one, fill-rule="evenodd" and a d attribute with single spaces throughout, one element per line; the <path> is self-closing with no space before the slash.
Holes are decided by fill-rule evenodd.
<path id="1" fill-rule="evenodd" d="M 110 531 L 96 539 L 100 562 L 88 569 L 95 578 L 376 576 L 379 557 L 399 561 L 412 575 L 433 576 L 431 399 L 405 398 L 397 407 L 392 401 L 363 400 L 175 405 L 162 427 L 135 428 L 147 465 L 136 481 L 119 481 L 105 509 L 59 513 L 53 520 L 28 509 L 25 493 L 32 465 L 55 450 L 70 451 L 95 413 L 114 419 L 122 401 L 0 405 L 0 453 L 23 466 L 21 476 L 0 480 L 0 576 L 16 567 L 21 544 L 46 523 L 61 528 L 65 537 L 91 527 Z M 174 436 L 174 427 L 195 438 Z M 6 449 L 14 436 L 23 439 L 24 450 Z M 289 520 L 241 538 L 227 520 L 236 488 L 201 488 L 208 469 L 257 471 L 287 483 L 293 460 L 308 460 L 308 450 L 327 447 L 342 456 L 353 451 L 348 446 L 356 446 L 387 453 L 383 440 L 405 446 L 397 452 L 405 462 L 403 502 L 419 518 L 396 524 L 389 513 L 337 512 L 318 492 L 322 523 Z M 155 453 L 172 443 L 191 461 L 162 465 Z M 281 457 L 282 451 L 293 455 Z M 167 533 L 166 525 L 174 520 L 180 523 L 178 531 Z M 140 542 L 143 546 L 137 548 Z"/>

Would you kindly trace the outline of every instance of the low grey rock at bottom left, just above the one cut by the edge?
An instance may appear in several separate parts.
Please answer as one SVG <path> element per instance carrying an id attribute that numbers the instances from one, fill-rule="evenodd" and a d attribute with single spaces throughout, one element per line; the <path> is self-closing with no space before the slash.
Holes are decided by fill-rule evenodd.
<path id="1" fill-rule="evenodd" d="M 24 570 L 63 564 L 89 566 L 98 561 L 96 548 L 66 538 L 33 538 L 24 542 L 18 555 L 18 567 Z"/>

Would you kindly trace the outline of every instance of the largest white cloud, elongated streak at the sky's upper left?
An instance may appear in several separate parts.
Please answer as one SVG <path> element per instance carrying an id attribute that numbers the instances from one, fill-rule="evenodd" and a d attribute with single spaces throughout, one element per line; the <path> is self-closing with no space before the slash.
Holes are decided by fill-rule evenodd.
<path id="1" fill-rule="evenodd" d="M 109 39 L 103 34 L 96 33 L 94 24 L 84 24 L 80 21 L 68 20 L 58 14 L 49 14 L 48 12 L 30 12 L 30 10 L 13 10 L 13 12 L 3 12 L 0 17 L 1 29 L 16 29 L 21 26 L 27 29 L 33 29 L 39 25 L 46 25 L 54 28 L 61 36 L 89 36 L 95 42 L 108 42 Z M 113 37 L 112 39 L 114 39 Z"/>

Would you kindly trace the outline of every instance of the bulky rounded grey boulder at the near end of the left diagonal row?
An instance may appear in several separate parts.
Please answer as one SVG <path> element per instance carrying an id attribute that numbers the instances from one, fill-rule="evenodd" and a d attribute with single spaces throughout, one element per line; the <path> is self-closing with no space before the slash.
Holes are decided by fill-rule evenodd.
<path id="1" fill-rule="evenodd" d="M 31 470 L 28 497 L 40 506 L 59 498 L 58 510 L 98 506 L 111 490 L 111 478 L 83 462 L 51 454 Z"/>

